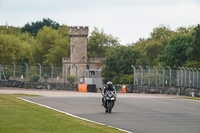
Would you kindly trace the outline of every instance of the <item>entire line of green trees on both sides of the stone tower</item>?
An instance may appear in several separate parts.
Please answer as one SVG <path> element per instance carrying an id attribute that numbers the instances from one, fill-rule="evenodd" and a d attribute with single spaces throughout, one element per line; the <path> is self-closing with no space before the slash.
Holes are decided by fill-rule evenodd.
<path id="1" fill-rule="evenodd" d="M 70 56 L 67 25 L 51 19 L 31 22 L 23 27 L 0 26 L 0 63 L 62 66 L 62 57 Z M 104 82 L 132 84 L 134 66 L 200 67 L 200 25 L 178 27 L 160 25 L 149 38 L 121 45 L 118 38 L 94 28 L 88 37 L 88 57 L 104 58 Z"/>

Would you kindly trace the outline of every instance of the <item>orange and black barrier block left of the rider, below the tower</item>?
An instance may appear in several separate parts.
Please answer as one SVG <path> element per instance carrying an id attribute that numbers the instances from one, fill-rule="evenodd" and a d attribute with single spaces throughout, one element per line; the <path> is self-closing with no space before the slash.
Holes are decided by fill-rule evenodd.
<path id="1" fill-rule="evenodd" d="M 97 92 L 95 84 L 79 84 L 79 92 Z"/>

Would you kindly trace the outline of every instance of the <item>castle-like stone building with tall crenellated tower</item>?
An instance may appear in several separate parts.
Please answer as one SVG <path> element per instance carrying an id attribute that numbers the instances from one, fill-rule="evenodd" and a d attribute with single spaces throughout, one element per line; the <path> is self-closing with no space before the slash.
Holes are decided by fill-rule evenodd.
<path id="1" fill-rule="evenodd" d="M 102 58 L 87 58 L 88 27 L 69 27 L 70 58 L 63 57 L 62 63 L 66 74 L 76 76 L 79 83 L 85 78 L 101 78 Z"/>

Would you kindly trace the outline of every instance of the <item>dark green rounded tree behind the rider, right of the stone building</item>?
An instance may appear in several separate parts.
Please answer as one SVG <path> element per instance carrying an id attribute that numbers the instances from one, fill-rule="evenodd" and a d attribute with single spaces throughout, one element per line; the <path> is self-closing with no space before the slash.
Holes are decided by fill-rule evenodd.
<path id="1" fill-rule="evenodd" d="M 131 65 L 147 64 L 141 58 L 145 59 L 140 52 L 134 50 L 131 46 L 117 46 L 112 49 L 107 53 L 103 62 L 102 75 L 104 82 L 111 80 L 114 84 L 120 83 L 120 78 L 123 75 L 133 73 Z"/>

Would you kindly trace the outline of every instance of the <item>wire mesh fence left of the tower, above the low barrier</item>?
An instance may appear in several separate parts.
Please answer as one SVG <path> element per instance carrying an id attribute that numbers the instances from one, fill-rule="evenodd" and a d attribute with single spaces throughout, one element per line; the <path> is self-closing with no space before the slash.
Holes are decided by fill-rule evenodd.
<path id="1" fill-rule="evenodd" d="M 59 82 L 66 83 L 65 67 L 43 67 L 38 63 L 38 66 L 21 65 L 0 65 L 0 80 L 19 80 L 31 81 L 34 75 L 39 77 L 39 82 Z"/>

